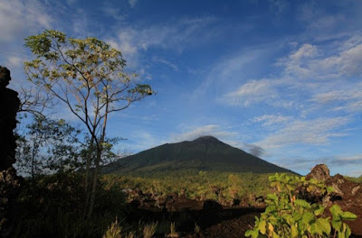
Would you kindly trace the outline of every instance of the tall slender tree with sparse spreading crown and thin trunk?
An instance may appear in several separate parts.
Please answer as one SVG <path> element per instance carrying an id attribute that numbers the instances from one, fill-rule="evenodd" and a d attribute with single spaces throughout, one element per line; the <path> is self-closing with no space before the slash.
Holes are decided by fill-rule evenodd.
<path id="1" fill-rule="evenodd" d="M 90 133 L 85 171 L 85 217 L 93 211 L 110 113 L 154 92 L 127 73 L 119 50 L 96 38 L 75 39 L 46 30 L 25 39 L 36 59 L 25 62 L 28 79 L 67 105 Z M 94 169 L 90 169 L 94 164 Z M 91 174 L 92 172 L 92 174 Z M 91 174 L 91 175 L 90 175 Z"/>

